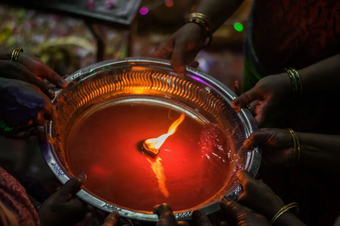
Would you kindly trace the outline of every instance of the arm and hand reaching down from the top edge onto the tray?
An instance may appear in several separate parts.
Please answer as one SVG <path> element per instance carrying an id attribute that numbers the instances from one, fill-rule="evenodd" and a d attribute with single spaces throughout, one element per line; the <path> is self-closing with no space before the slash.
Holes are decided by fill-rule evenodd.
<path id="1" fill-rule="evenodd" d="M 211 31 L 214 32 L 242 2 L 243 0 L 202 0 L 194 12 L 206 15 L 212 23 Z M 180 75 L 185 75 L 185 64 L 192 65 L 196 55 L 204 47 L 207 37 L 208 33 L 202 26 L 196 23 L 186 23 L 160 43 L 151 56 L 171 59 L 175 71 Z"/>

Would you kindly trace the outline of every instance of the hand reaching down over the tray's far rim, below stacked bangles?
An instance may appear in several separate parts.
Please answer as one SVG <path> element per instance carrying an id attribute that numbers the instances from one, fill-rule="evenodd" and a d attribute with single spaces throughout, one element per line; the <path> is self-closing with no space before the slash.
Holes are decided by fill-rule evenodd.
<path id="1" fill-rule="evenodd" d="M 185 75 L 185 64 L 191 64 L 204 47 L 207 35 L 195 23 L 187 23 L 170 37 L 160 43 L 151 57 L 171 59 L 172 66 L 180 75 Z M 198 63 L 191 64 L 198 67 Z"/>

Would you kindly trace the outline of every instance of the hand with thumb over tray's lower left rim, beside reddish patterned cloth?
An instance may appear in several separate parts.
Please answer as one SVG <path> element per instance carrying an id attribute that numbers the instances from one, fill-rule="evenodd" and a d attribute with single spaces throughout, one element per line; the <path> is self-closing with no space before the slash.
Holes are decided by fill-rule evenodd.
<path id="1" fill-rule="evenodd" d="M 41 226 L 73 226 L 84 219 L 85 205 L 74 196 L 85 181 L 84 173 L 70 178 L 41 204 L 38 210 Z"/>

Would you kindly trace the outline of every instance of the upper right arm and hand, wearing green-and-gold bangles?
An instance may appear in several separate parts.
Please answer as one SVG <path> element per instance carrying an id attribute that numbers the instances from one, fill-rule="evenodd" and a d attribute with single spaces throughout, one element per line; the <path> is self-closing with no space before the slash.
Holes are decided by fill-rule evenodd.
<path id="1" fill-rule="evenodd" d="M 317 91 L 337 91 L 339 89 L 340 54 L 327 58 L 304 69 L 298 70 L 302 83 L 302 93 Z M 293 90 L 287 73 L 269 75 L 256 83 L 254 88 L 232 101 L 236 110 L 257 101 L 255 120 L 259 127 L 280 104 L 292 98 Z"/>

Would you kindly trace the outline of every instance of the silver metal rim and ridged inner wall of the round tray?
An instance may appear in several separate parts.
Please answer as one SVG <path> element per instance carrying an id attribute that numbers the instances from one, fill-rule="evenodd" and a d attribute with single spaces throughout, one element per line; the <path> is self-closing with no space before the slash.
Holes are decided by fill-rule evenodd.
<path id="1" fill-rule="evenodd" d="M 174 72 L 170 61 L 122 58 L 99 62 L 70 75 L 66 79 L 68 86 L 63 90 L 56 89 L 52 100 L 59 113 L 58 118 L 49 121 L 45 127 L 39 127 L 40 149 L 56 178 L 64 184 L 72 177 L 63 152 L 68 128 L 79 112 L 88 110 L 95 103 L 98 107 L 119 101 L 149 101 L 184 111 L 203 123 L 206 118 L 216 120 L 232 143 L 231 169 L 223 192 L 208 203 L 175 211 L 176 219 L 189 220 L 194 209 L 202 209 L 206 214 L 219 210 L 219 199 L 223 195 L 237 199 L 242 192 L 236 177 L 238 170 L 245 169 L 255 176 L 261 161 L 258 148 L 249 150 L 242 146 L 244 139 L 257 130 L 256 122 L 248 109 L 238 113 L 232 109 L 231 101 L 236 95 L 221 82 L 194 68 L 186 69 L 186 76 L 180 76 Z M 205 105 L 198 105 L 200 101 Z M 118 207 L 86 189 L 81 189 L 77 196 L 104 211 L 119 211 L 126 218 L 158 220 L 156 214 Z"/>

